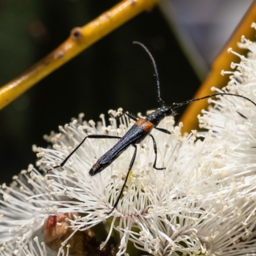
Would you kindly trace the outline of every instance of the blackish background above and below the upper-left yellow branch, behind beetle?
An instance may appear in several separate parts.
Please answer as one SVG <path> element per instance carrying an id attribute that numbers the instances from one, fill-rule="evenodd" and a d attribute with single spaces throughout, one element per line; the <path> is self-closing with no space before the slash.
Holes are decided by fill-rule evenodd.
<path id="1" fill-rule="evenodd" d="M 0 2 L 0 85 L 24 72 L 69 35 L 119 1 L 5 0 Z M 154 8 L 116 29 L 0 111 L 1 180 L 35 164 L 31 145 L 46 147 L 44 134 L 83 112 L 122 107 L 145 114 L 158 107 L 152 52 L 166 105 L 191 99 L 200 85 L 163 15 Z M 179 109 L 182 112 L 182 109 Z"/>

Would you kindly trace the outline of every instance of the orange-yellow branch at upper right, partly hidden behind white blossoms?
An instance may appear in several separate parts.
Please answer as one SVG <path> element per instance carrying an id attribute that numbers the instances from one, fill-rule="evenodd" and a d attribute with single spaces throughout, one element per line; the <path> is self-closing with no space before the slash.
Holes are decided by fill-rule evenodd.
<path id="1" fill-rule="evenodd" d="M 241 20 L 239 26 L 237 26 L 236 31 L 234 31 L 225 47 L 223 47 L 220 54 L 212 63 L 211 72 L 200 86 L 198 92 L 196 92 L 195 98 L 212 94 L 212 86 L 223 88 L 223 86 L 227 85 L 229 78 L 228 76 L 221 76 L 221 70 L 230 70 L 230 64 L 239 61 L 239 58 L 234 54 L 228 53 L 227 49 L 232 47 L 234 51 L 244 54 L 237 46 L 237 42 L 240 42 L 242 35 L 250 40 L 255 40 L 255 29 L 251 28 L 252 22 L 255 21 L 256 1 L 252 3 L 248 12 L 244 15 L 243 20 Z M 191 129 L 196 129 L 198 127 L 197 115 L 199 115 L 204 108 L 207 108 L 207 100 L 201 100 L 188 106 L 185 113 L 182 115 L 182 118 L 180 118 L 180 121 L 184 124 L 184 127 L 182 128 L 183 132 L 189 132 Z"/>

